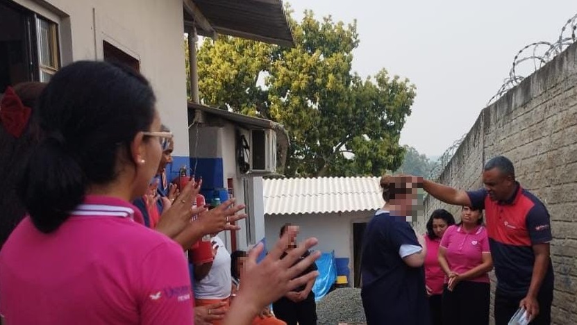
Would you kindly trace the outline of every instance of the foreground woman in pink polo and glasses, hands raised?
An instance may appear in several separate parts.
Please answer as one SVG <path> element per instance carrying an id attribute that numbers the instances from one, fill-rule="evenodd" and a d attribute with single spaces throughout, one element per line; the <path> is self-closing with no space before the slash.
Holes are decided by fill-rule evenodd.
<path id="1" fill-rule="evenodd" d="M 142 215 L 129 203 L 158 168 L 159 140 L 172 138 L 160 132 L 149 82 L 130 67 L 78 61 L 51 78 L 33 114 L 40 139 L 19 181 L 28 216 L 0 251 L 3 324 L 193 324 L 181 246 L 135 222 Z M 193 183 L 174 204 L 191 209 Z M 221 221 L 219 230 L 236 211 L 227 202 L 204 214 Z M 316 242 L 303 242 L 287 262 L 283 242 L 258 265 L 262 246 L 251 251 L 246 288 L 224 324 L 250 324 L 291 285 L 317 276 L 292 280 L 318 253 L 288 264 Z"/>

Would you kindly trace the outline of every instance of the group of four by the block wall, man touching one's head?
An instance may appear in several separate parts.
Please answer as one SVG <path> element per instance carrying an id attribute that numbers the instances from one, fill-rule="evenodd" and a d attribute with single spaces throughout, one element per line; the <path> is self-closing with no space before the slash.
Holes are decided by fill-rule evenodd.
<path id="1" fill-rule="evenodd" d="M 367 324 L 489 324 L 492 269 L 496 325 L 551 324 L 549 213 L 521 188 L 508 158 L 490 159 L 481 176 L 484 187 L 474 191 L 415 176 L 381 178 L 385 205 L 367 224 L 362 249 Z M 419 188 L 460 206 L 460 222 L 435 210 L 426 233 L 416 233 L 406 219 Z"/>

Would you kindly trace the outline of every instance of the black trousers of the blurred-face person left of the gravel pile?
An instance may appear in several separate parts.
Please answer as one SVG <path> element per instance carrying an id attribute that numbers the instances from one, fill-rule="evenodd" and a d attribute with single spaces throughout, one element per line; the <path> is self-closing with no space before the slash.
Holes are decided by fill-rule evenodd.
<path id="1" fill-rule="evenodd" d="M 287 325 L 316 325 L 317 303 L 315 294 L 312 292 L 308 297 L 298 303 L 283 297 L 272 304 L 272 311 L 276 318 L 286 322 Z"/>

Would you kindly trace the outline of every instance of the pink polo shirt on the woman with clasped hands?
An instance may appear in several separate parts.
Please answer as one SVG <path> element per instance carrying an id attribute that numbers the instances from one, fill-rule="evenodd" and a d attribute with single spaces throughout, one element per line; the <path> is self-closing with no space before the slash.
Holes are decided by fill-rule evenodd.
<path id="1" fill-rule="evenodd" d="M 445 258 L 449 269 L 463 274 L 483 263 L 483 253 L 489 253 L 489 239 L 484 226 L 478 226 L 467 233 L 462 226 L 453 225 L 446 229 L 441 240 L 446 249 Z M 489 274 L 485 273 L 467 281 L 489 283 Z"/>

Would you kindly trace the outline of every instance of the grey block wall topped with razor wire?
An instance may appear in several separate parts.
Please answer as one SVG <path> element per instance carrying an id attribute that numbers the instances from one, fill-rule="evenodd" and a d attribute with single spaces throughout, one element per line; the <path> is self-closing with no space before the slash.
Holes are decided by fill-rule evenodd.
<path id="1" fill-rule="evenodd" d="M 549 209 L 553 324 L 577 324 L 577 44 L 480 113 L 440 183 L 480 188 L 483 163 L 499 154 L 515 163 L 521 185 Z M 458 207 L 432 197 L 425 204 L 426 215 L 439 207 L 458 215 Z"/>

